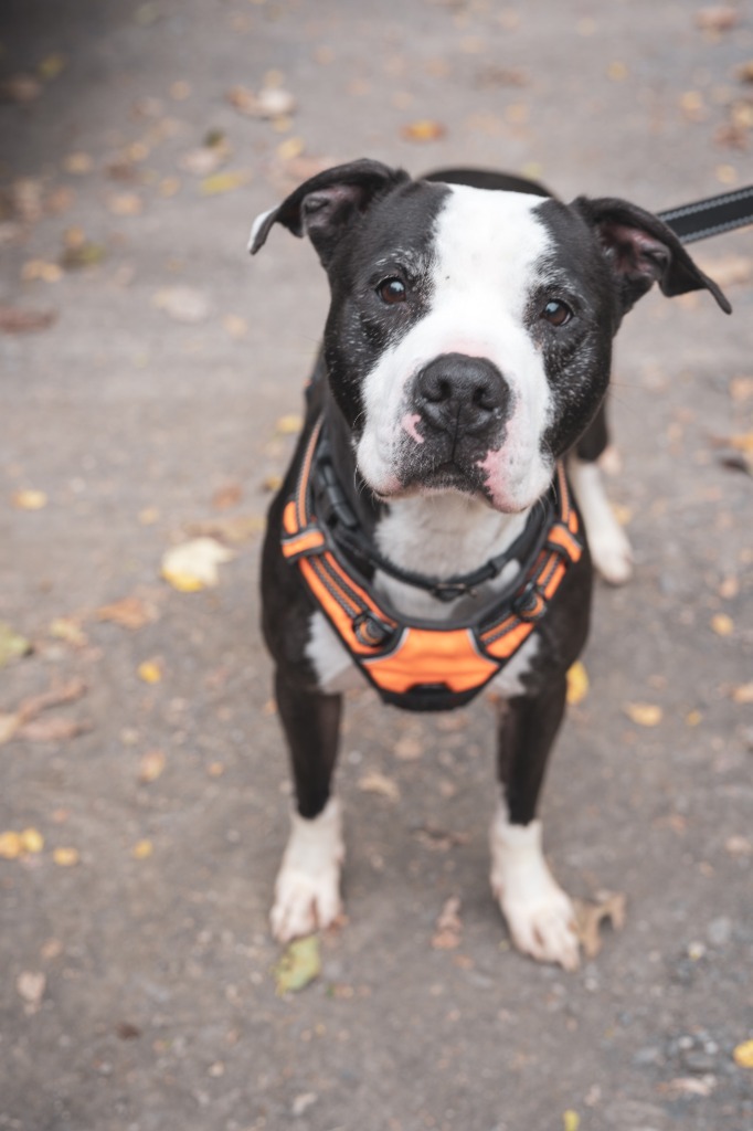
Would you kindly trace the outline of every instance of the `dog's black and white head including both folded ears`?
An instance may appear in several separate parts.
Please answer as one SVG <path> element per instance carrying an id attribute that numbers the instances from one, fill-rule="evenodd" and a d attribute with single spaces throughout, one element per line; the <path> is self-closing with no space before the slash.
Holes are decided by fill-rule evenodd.
<path id="1" fill-rule="evenodd" d="M 309 235 L 331 305 L 324 359 L 382 499 L 455 490 L 529 507 L 606 391 L 612 338 L 656 282 L 729 304 L 657 217 L 412 181 L 373 161 L 313 176 L 251 233 Z"/>

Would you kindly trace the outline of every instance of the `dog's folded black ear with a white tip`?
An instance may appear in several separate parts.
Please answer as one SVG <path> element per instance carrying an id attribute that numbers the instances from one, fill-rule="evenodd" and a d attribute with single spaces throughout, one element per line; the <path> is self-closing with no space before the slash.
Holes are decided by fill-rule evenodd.
<path id="1" fill-rule="evenodd" d="M 318 173 L 277 208 L 254 221 L 249 251 L 256 256 L 272 224 L 294 235 L 309 235 L 324 267 L 349 224 L 383 192 L 408 181 L 408 174 L 379 161 L 354 161 Z"/>

